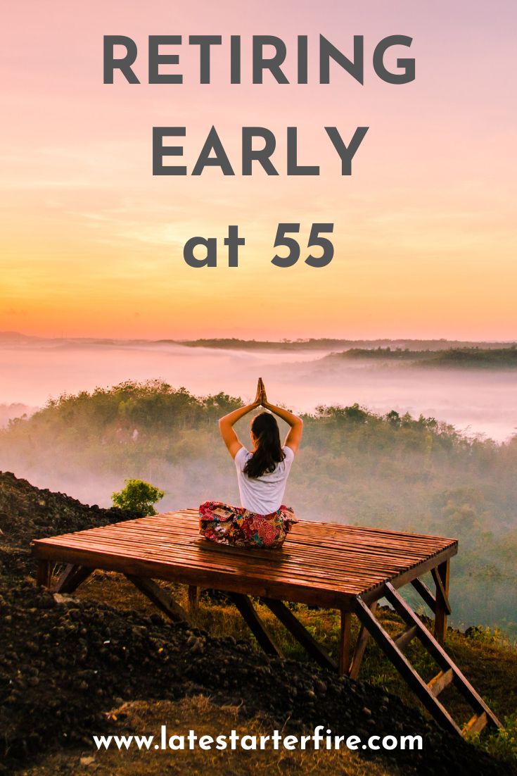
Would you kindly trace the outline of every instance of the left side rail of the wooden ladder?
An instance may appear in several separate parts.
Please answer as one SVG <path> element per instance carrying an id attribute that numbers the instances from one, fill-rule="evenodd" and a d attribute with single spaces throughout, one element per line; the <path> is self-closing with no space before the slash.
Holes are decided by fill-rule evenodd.
<path id="1" fill-rule="evenodd" d="M 439 702 L 438 698 L 435 698 L 433 693 L 429 690 L 426 682 L 422 677 L 416 673 L 402 652 L 398 649 L 398 646 L 394 643 L 393 639 L 384 630 L 381 623 L 378 622 L 374 614 L 372 614 L 370 608 L 361 600 L 360 596 L 357 596 L 357 617 L 360 622 L 363 622 L 364 626 L 370 631 L 371 636 L 375 639 L 377 644 L 381 647 L 384 654 L 388 656 L 391 663 L 394 664 L 398 673 L 408 684 L 408 686 L 415 693 L 417 698 L 422 702 L 427 711 L 436 722 L 439 723 L 450 733 L 458 733 L 461 735 L 460 728 L 454 722 L 453 718 L 447 712 L 446 708 Z"/>

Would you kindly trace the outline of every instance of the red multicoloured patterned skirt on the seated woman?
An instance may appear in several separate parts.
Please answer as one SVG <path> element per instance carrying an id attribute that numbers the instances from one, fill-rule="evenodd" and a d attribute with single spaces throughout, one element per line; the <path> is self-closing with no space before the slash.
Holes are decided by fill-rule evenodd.
<path id="1" fill-rule="evenodd" d="M 255 514 L 222 501 L 205 501 L 199 508 L 199 533 L 209 542 L 234 547 L 280 547 L 295 522 L 295 512 L 284 504 L 271 514 Z"/>

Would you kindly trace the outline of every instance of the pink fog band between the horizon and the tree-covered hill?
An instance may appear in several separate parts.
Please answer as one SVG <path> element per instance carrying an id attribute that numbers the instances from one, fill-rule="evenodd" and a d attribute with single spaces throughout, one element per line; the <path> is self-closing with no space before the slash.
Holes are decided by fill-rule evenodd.
<path id="1" fill-rule="evenodd" d="M 426 369 L 378 362 L 322 360 L 327 352 L 232 351 L 174 344 L 27 341 L 0 345 L 0 404 L 28 409 L 61 393 L 162 378 L 203 395 L 252 397 L 262 376 L 271 401 L 297 411 L 353 404 L 447 421 L 470 434 L 503 441 L 517 428 L 517 372 Z M 23 410 L 22 410 L 23 411 Z M 2 407 L 0 421 L 21 414 Z"/>

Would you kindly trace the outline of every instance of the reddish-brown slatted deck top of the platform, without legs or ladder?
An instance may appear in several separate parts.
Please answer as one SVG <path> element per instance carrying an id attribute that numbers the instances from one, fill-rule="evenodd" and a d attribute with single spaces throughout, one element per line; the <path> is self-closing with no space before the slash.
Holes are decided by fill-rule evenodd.
<path id="1" fill-rule="evenodd" d="M 37 539 L 38 559 L 353 611 L 457 553 L 456 539 L 299 521 L 278 550 L 212 544 L 184 510 Z"/>

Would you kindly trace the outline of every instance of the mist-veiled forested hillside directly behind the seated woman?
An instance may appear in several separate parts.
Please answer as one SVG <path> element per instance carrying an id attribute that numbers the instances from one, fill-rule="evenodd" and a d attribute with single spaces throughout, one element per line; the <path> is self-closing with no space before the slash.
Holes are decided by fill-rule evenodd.
<path id="1" fill-rule="evenodd" d="M 217 418 L 240 402 L 162 381 L 65 395 L 0 430 L 0 469 L 102 504 L 130 476 L 165 490 L 165 510 L 232 502 Z M 453 624 L 474 618 L 517 637 L 517 438 L 496 445 L 434 417 L 358 404 L 318 407 L 304 420 L 286 491 L 299 516 L 458 538 Z M 246 442 L 246 421 L 237 430 Z"/>

